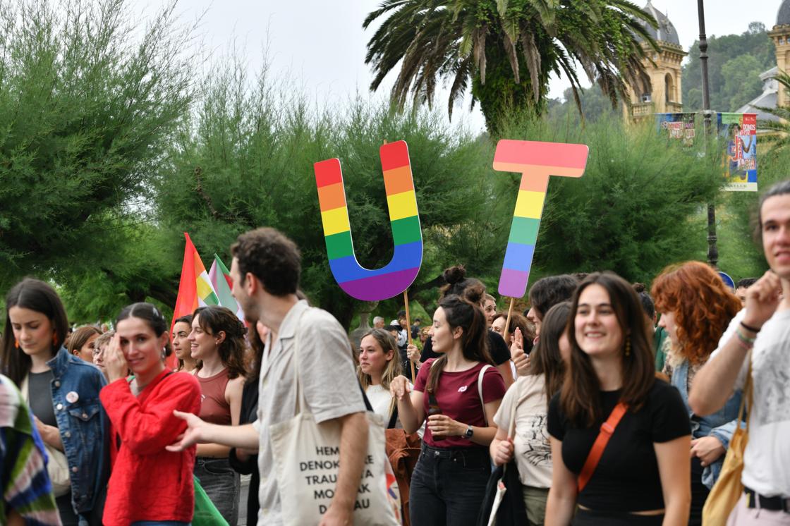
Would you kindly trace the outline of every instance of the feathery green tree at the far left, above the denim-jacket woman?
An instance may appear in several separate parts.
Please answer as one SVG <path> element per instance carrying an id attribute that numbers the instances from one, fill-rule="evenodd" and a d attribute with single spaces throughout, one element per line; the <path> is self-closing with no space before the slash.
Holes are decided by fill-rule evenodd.
<path id="1" fill-rule="evenodd" d="M 0 25 L 0 284 L 115 280 L 190 104 L 190 28 L 172 6 L 137 28 L 124 0 L 3 2 Z"/>

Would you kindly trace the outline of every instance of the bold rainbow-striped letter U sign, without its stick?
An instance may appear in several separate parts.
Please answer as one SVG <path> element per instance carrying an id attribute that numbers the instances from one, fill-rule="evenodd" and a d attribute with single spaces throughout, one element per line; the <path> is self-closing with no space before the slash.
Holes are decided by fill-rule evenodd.
<path id="1" fill-rule="evenodd" d="M 329 268 L 340 288 L 363 301 L 389 299 L 401 294 L 415 280 L 423 262 L 423 233 L 419 227 L 408 146 L 405 141 L 392 142 L 382 145 L 378 155 L 384 171 L 395 252 L 392 261 L 377 270 L 364 269 L 356 261 L 340 160 L 314 164 Z"/>

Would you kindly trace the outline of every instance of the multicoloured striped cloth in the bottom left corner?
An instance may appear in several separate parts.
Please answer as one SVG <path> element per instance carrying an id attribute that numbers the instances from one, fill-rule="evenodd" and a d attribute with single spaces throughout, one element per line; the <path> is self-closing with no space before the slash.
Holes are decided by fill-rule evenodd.
<path id="1" fill-rule="evenodd" d="M 27 404 L 0 374 L 0 523 L 13 509 L 30 526 L 61 524 L 47 475 L 47 454 Z"/>

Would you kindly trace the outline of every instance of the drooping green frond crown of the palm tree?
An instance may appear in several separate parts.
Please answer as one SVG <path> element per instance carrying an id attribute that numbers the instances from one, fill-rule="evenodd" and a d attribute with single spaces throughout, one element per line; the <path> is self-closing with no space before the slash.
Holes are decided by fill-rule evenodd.
<path id="1" fill-rule="evenodd" d="M 371 90 L 400 64 L 393 102 L 431 106 L 438 82 L 450 81 L 452 118 L 471 84 L 491 132 L 512 111 L 540 115 L 551 72 L 570 80 L 581 113 L 576 63 L 615 107 L 626 85 L 649 86 L 641 42 L 657 50 L 645 29 L 656 20 L 628 0 L 384 0 L 363 28 L 385 16 L 367 43 Z"/>

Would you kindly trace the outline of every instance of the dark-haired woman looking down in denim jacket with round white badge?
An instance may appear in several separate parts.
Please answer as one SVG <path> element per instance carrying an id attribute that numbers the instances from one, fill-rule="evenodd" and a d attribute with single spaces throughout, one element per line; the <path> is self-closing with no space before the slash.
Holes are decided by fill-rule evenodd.
<path id="1" fill-rule="evenodd" d="M 6 309 L 0 363 L 36 417 L 62 523 L 101 524 L 108 475 L 104 375 L 63 347 L 66 312 L 48 284 L 22 280 L 6 296 Z"/>

